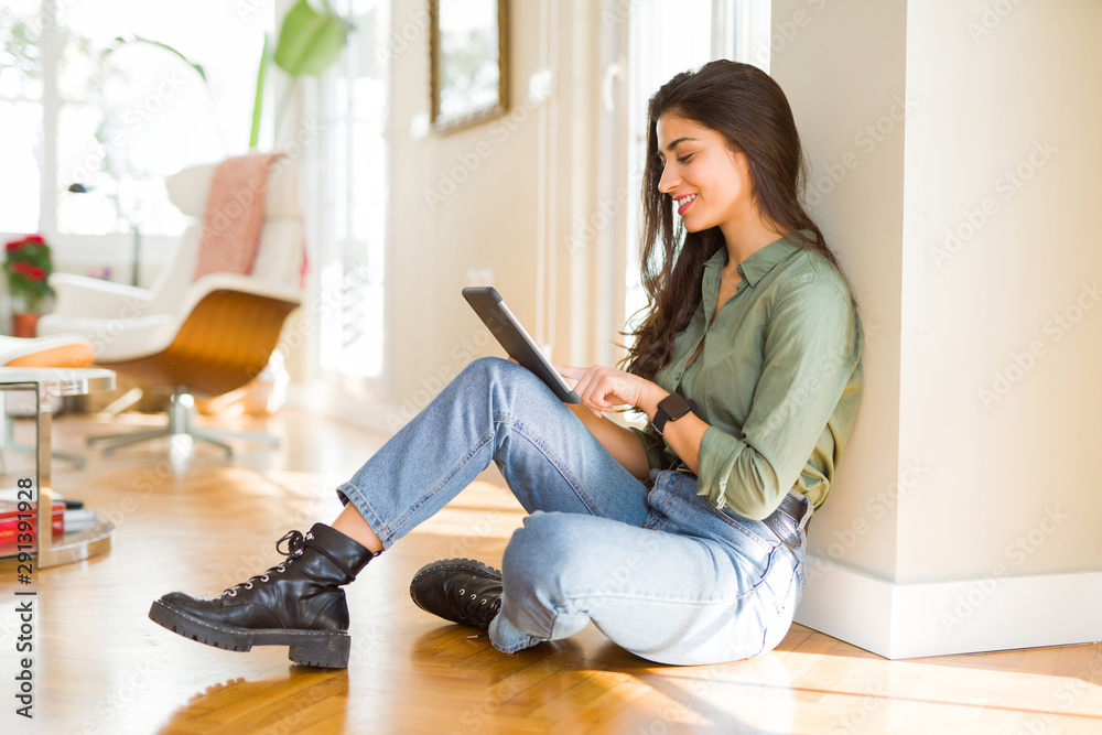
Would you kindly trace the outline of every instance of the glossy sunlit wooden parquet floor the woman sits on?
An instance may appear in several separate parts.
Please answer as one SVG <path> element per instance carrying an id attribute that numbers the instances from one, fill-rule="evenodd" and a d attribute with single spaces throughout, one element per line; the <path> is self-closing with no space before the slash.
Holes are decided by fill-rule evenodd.
<path id="1" fill-rule="evenodd" d="M 143 420 L 154 421 L 123 419 Z M 62 417 L 55 443 L 84 453 L 85 435 L 114 428 Z M 174 471 L 163 442 L 93 456 L 79 472 L 55 464 L 55 488 L 112 518 L 117 542 L 35 573 L 31 722 L 14 716 L 15 570 L 0 562 L 0 733 L 1102 733 L 1098 645 L 887 661 L 796 626 L 757 659 L 673 668 L 591 626 L 498 653 L 408 595 L 426 561 L 500 561 L 521 511 L 489 483 L 348 587 L 347 670 L 293 666 L 285 648 L 235 653 L 185 640 L 147 618 L 150 603 L 173 590 L 217 594 L 277 562 L 276 540 L 332 519 L 333 488 L 381 442 L 291 411 L 267 428 L 283 451 L 239 444 L 229 464 L 199 448 Z"/>

